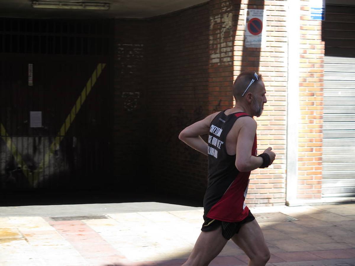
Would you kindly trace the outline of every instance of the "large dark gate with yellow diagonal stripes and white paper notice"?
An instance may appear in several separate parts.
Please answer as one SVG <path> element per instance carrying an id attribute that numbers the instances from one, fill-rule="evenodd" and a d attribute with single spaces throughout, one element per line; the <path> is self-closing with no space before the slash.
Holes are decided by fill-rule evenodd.
<path id="1" fill-rule="evenodd" d="M 0 189 L 104 185 L 111 165 L 107 34 L 79 20 L 0 24 Z"/>

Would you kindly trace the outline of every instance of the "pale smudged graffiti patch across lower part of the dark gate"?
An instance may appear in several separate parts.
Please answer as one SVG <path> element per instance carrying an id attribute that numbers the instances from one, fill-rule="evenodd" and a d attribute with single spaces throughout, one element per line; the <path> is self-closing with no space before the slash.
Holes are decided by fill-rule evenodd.
<path id="1" fill-rule="evenodd" d="M 45 187 L 45 182 L 53 176 L 69 172 L 72 150 L 65 149 L 65 145 L 58 146 L 48 164 L 42 165 L 54 137 L 2 137 L 0 144 L 0 182 L 1 188 L 15 188 L 22 184 L 22 188 Z M 68 157 L 69 156 L 69 157 Z M 53 180 L 51 181 L 53 182 Z"/>

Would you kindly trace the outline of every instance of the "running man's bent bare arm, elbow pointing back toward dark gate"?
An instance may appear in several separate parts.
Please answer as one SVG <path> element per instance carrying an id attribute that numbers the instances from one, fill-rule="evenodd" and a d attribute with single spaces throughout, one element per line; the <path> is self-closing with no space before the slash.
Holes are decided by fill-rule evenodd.
<path id="1" fill-rule="evenodd" d="M 216 113 L 207 116 L 203 120 L 200 120 L 188 127 L 186 127 L 179 134 L 179 139 L 189 145 L 191 148 L 200 151 L 204 155 L 207 155 L 208 144 L 200 137 L 201 135 L 208 134 L 209 125 Z"/>

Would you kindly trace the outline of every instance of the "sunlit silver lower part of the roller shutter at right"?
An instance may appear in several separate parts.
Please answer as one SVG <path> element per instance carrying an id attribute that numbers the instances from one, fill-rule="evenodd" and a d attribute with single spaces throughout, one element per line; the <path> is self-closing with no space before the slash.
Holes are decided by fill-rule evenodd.
<path id="1" fill-rule="evenodd" d="M 355 58 L 324 59 L 323 196 L 355 196 Z"/>

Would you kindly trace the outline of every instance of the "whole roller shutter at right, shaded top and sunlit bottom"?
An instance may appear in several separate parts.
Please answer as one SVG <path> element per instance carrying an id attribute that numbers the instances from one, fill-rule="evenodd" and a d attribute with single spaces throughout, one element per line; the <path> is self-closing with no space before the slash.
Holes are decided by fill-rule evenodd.
<path id="1" fill-rule="evenodd" d="M 326 11 L 322 196 L 355 196 L 355 6 Z"/>

